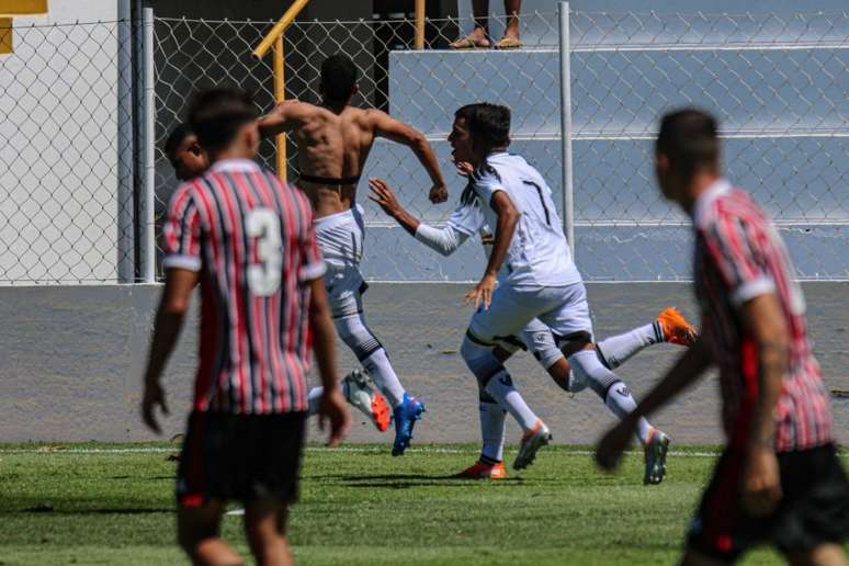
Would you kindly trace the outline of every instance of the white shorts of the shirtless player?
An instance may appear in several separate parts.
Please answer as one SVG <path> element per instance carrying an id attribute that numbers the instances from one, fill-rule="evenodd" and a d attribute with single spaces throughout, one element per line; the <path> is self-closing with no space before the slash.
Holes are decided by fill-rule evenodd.
<path id="1" fill-rule="evenodd" d="M 316 220 L 316 239 L 327 265 L 325 288 L 333 318 L 363 312 L 362 294 L 369 287 L 360 273 L 364 231 L 359 204 Z"/>

